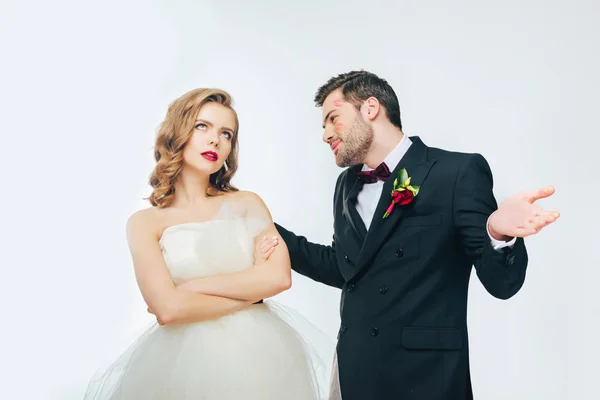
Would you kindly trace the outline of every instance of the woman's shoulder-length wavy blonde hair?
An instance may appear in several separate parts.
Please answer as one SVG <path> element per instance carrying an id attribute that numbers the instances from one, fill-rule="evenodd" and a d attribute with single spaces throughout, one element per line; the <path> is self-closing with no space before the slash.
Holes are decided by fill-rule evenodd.
<path id="1" fill-rule="evenodd" d="M 231 178 L 238 167 L 239 120 L 232 107 L 232 98 L 224 90 L 194 89 L 179 97 L 169 105 L 167 116 L 161 123 L 154 145 L 156 167 L 150 175 L 152 194 L 148 200 L 153 206 L 167 207 L 175 196 L 175 183 L 183 168 L 183 149 L 194 133 L 196 117 L 206 103 L 215 102 L 229 108 L 235 118 L 231 153 L 223 167 L 210 176 L 207 195 L 237 191 Z"/>

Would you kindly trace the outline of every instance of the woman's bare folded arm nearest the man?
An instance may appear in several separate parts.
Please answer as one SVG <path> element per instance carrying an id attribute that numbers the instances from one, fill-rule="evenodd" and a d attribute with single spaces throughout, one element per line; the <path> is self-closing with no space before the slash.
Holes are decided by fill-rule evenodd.
<path id="1" fill-rule="evenodd" d="M 193 292 L 256 302 L 273 297 L 292 285 L 292 269 L 287 246 L 275 239 L 279 234 L 262 199 L 252 192 L 236 194 L 250 214 L 264 221 L 264 229 L 255 238 L 255 262 L 239 272 L 193 279 L 178 286 Z M 267 249 L 266 252 L 260 249 Z M 277 248 L 275 250 L 275 248 Z"/>

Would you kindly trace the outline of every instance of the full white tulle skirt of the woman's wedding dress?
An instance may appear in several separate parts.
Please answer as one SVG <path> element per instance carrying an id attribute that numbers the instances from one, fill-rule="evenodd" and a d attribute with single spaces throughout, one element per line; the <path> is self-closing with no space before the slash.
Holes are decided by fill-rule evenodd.
<path id="1" fill-rule="evenodd" d="M 335 342 L 272 301 L 213 321 L 153 324 L 85 400 L 327 399 Z"/>

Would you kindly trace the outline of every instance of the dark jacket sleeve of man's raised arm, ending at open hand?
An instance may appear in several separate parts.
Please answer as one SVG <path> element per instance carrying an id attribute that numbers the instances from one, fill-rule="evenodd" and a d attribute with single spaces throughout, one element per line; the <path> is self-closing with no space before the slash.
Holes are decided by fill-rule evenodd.
<path id="1" fill-rule="evenodd" d="M 508 299 L 525 281 L 527 251 L 523 238 L 513 246 L 494 249 L 487 230 L 488 218 L 498 208 L 492 189 L 492 171 L 485 158 L 469 155 L 456 178 L 453 221 L 483 286 L 494 297 Z"/>

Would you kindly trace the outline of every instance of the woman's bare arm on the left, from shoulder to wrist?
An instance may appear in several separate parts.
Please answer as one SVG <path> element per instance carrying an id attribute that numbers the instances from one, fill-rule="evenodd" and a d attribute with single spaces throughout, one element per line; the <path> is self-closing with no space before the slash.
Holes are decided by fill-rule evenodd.
<path id="1" fill-rule="evenodd" d="M 138 211 L 127 221 L 127 242 L 138 286 L 159 324 L 215 319 L 252 304 L 176 287 L 158 244 L 160 235 L 156 226 L 152 214 Z"/>

